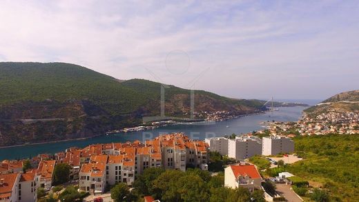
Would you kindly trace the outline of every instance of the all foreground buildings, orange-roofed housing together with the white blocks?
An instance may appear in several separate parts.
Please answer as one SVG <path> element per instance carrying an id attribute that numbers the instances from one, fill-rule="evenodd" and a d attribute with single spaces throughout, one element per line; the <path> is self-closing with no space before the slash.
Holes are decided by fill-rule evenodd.
<path id="1" fill-rule="evenodd" d="M 224 184 L 242 186 L 250 192 L 261 188 L 262 178 L 255 165 L 244 162 L 255 155 L 292 153 L 294 143 L 287 137 L 264 137 L 250 134 L 198 141 L 182 133 L 164 134 L 155 139 L 126 143 L 88 145 L 68 148 L 56 154 L 39 154 L 32 159 L 4 160 L 0 163 L 0 201 L 37 201 L 37 190 L 52 192 L 54 172 L 59 164 L 70 165 L 69 182 L 79 192 L 90 196 L 106 194 L 106 187 L 117 183 L 133 185 L 146 168 L 186 171 L 188 167 L 208 170 L 210 152 L 219 152 L 237 160 L 225 170 Z M 28 161 L 30 166 L 24 170 Z M 147 197 L 147 199 L 149 199 Z"/>

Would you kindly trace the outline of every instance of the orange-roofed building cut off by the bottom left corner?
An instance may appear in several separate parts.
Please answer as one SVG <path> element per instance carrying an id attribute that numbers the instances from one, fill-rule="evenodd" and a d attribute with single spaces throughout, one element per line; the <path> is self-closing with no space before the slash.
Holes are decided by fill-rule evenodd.
<path id="1" fill-rule="evenodd" d="M 0 174 L 0 202 L 18 200 L 19 174 Z"/>

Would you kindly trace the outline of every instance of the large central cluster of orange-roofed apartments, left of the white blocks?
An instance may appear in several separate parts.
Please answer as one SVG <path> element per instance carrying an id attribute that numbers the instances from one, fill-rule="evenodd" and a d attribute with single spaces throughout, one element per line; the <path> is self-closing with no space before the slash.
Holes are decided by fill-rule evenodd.
<path id="1" fill-rule="evenodd" d="M 208 170 L 208 144 L 188 139 L 184 134 L 166 134 L 144 143 L 90 145 L 81 150 L 79 159 L 80 190 L 99 193 L 106 185 L 132 185 L 135 176 L 147 168 L 185 171 L 191 165 Z"/>

